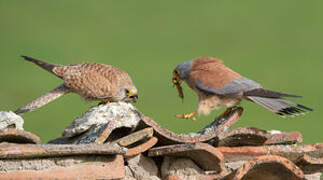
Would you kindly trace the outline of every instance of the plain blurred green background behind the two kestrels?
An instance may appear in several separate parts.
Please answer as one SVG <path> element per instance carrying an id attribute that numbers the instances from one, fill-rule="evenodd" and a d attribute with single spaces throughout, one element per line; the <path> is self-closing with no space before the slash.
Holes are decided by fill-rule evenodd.
<path id="1" fill-rule="evenodd" d="M 139 89 L 135 104 L 177 133 L 200 130 L 213 117 L 175 119 L 197 98 L 185 85 L 184 102 L 171 84 L 173 68 L 214 56 L 265 88 L 302 95 L 315 109 L 283 119 L 244 102 L 235 127 L 299 131 L 305 143 L 323 140 L 323 1 L 0 1 L 0 109 L 15 110 L 62 81 L 23 61 L 28 55 L 57 64 L 84 61 L 117 66 Z M 23 115 L 24 127 L 43 142 L 60 136 L 89 107 L 69 94 Z"/>

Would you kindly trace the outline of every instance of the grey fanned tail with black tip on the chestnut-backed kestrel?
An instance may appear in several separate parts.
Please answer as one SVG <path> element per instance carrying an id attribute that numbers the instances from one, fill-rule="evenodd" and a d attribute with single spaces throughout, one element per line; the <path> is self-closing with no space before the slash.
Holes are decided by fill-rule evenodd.
<path id="1" fill-rule="evenodd" d="M 247 98 L 283 117 L 292 117 L 294 115 L 304 114 L 307 111 L 313 111 L 313 109 L 311 108 L 281 98 L 266 98 L 255 96 L 248 96 Z"/>

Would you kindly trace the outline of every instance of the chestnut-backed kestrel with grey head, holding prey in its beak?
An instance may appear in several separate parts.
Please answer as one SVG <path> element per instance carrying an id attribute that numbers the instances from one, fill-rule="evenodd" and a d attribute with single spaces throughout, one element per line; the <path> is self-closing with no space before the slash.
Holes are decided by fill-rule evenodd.
<path id="1" fill-rule="evenodd" d="M 184 98 L 180 83 L 185 81 L 198 95 L 198 106 L 195 112 L 176 115 L 177 118 L 195 120 L 194 115 L 209 114 L 211 110 L 226 107 L 220 115 L 231 112 L 241 100 L 255 102 L 264 108 L 280 115 L 293 116 L 312 111 L 311 108 L 284 99 L 300 97 L 297 95 L 271 91 L 248 78 L 241 76 L 222 64 L 220 59 L 200 57 L 179 64 L 173 71 L 173 84 L 176 85 L 179 97 Z"/>

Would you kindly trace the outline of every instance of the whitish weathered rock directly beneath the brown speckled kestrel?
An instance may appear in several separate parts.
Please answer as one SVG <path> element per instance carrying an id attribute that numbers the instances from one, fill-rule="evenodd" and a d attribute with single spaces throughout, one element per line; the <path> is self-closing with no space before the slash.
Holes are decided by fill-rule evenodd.
<path id="1" fill-rule="evenodd" d="M 63 132 L 63 137 L 75 137 L 86 132 L 78 143 L 95 142 L 98 138 L 108 138 L 113 129 L 135 128 L 141 120 L 141 114 L 131 104 L 114 102 L 89 109 L 76 118 Z M 108 128 L 108 130 L 107 130 Z M 108 132 L 107 132 L 108 131 Z M 101 137 L 101 134 L 106 134 Z"/>

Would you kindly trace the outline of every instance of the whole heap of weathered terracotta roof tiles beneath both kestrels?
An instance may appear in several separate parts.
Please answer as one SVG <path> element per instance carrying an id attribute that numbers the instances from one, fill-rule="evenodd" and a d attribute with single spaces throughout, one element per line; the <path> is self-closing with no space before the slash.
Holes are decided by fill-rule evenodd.
<path id="1" fill-rule="evenodd" d="M 323 143 L 297 145 L 298 132 L 231 130 L 242 111 L 192 134 L 138 112 L 131 126 L 115 118 L 48 144 L 8 128 L 0 132 L 0 179 L 320 179 Z"/>

